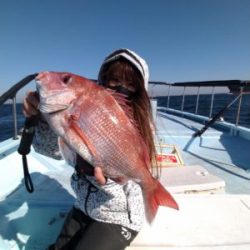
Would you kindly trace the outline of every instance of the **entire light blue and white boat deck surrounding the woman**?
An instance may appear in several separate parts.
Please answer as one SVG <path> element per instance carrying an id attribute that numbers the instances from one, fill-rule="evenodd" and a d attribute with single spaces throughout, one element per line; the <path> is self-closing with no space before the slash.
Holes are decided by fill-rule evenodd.
<path id="1" fill-rule="evenodd" d="M 173 114 L 158 112 L 156 121 L 158 141 L 176 145 L 187 165 L 176 167 L 178 174 L 193 166 L 204 168 L 225 184 L 225 193 L 174 194 L 180 211 L 161 207 L 154 223 L 145 224 L 127 249 L 249 249 L 249 140 L 214 128 L 192 138 L 203 125 Z M 0 249 L 45 249 L 74 203 L 69 183 L 73 169 L 32 149 L 28 162 L 35 191 L 30 194 L 24 186 L 18 143 L 10 139 L 0 147 Z M 164 168 L 163 175 L 171 171 Z M 195 172 L 198 179 L 199 173 L 203 178 L 204 170 Z M 171 175 L 176 178 L 173 171 L 166 186 L 180 193 L 178 185 L 183 183 L 172 185 Z"/>

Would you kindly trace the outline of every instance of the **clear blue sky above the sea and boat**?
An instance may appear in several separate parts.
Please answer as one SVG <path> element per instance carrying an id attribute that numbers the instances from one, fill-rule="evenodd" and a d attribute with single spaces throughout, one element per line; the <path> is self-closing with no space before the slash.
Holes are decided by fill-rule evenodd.
<path id="1" fill-rule="evenodd" d="M 44 70 L 96 78 L 124 47 L 150 80 L 250 80 L 250 0 L 2 0 L 0 29 L 0 94 Z"/>

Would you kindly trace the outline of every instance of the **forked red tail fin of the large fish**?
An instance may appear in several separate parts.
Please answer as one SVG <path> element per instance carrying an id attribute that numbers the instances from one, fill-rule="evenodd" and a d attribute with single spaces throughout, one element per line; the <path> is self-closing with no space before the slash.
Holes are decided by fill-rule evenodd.
<path id="1" fill-rule="evenodd" d="M 155 218 L 159 206 L 166 206 L 179 210 L 177 202 L 159 181 L 154 180 L 154 186 L 154 188 L 149 189 L 144 193 L 146 217 L 150 223 Z"/>

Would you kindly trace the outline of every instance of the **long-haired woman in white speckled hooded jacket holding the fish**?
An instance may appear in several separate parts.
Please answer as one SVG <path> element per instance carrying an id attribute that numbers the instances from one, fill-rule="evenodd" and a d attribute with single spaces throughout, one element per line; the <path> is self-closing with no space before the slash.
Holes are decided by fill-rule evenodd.
<path id="1" fill-rule="evenodd" d="M 152 134 L 151 106 L 146 91 L 146 62 L 128 49 L 116 50 L 104 60 L 98 82 L 126 97 L 127 107 L 124 111 L 138 127 L 148 147 L 150 158 L 154 161 L 156 151 Z M 38 103 L 34 92 L 27 95 L 24 100 L 26 117 L 38 113 Z M 53 140 L 54 143 L 51 143 Z M 41 120 L 33 143 L 36 151 L 59 159 L 56 140 L 48 125 Z M 97 167 L 93 173 L 88 163 L 80 157 L 77 158 L 71 185 L 76 193 L 76 202 L 55 244 L 49 249 L 125 249 L 140 231 L 145 217 L 139 185 L 133 181 L 118 184 L 104 177 L 101 169 Z"/>

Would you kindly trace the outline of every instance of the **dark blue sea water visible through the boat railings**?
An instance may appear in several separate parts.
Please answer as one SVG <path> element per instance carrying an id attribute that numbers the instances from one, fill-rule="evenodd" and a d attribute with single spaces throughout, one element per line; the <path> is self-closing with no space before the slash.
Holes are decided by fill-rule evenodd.
<path id="1" fill-rule="evenodd" d="M 235 98 L 234 95 L 216 94 L 214 96 L 214 105 L 212 116 L 219 112 L 226 104 Z M 157 97 L 158 106 L 167 107 L 167 97 Z M 210 95 L 200 95 L 198 114 L 209 116 L 210 112 Z M 169 108 L 181 110 L 182 97 L 171 96 L 169 100 Z M 184 111 L 195 112 L 196 96 L 187 95 L 185 97 Z M 227 122 L 235 123 L 238 108 L 236 101 L 223 115 Z M 22 114 L 22 104 L 17 104 L 17 126 L 20 131 L 24 124 L 24 116 Z M 244 95 L 242 98 L 239 125 L 250 128 L 250 95 Z M 0 107 L 0 141 L 12 137 L 14 134 L 12 105 L 5 104 Z"/>

